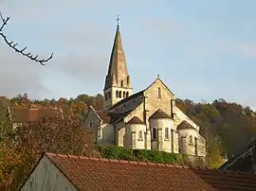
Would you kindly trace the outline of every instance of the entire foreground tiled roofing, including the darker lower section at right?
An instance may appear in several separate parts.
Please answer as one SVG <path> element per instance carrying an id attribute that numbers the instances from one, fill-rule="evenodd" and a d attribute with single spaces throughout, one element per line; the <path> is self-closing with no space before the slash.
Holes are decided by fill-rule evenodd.
<path id="1" fill-rule="evenodd" d="M 54 153 L 43 156 L 78 190 L 256 190 L 256 176 L 248 173 Z"/>

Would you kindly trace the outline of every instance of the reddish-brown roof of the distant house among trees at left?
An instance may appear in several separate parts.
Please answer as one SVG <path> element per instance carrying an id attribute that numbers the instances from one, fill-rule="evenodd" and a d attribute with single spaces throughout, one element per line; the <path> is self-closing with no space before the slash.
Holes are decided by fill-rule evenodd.
<path id="1" fill-rule="evenodd" d="M 61 118 L 62 112 L 59 108 L 9 108 L 9 116 L 13 122 L 34 122 L 42 118 Z"/>

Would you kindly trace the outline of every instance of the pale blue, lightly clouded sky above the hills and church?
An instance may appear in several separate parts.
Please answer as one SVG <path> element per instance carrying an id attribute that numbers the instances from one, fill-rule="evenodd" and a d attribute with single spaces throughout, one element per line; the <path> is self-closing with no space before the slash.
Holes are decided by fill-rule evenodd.
<path id="1" fill-rule="evenodd" d="M 4 33 L 42 66 L 0 39 L 0 95 L 102 94 L 117 15 L 134 92 L 157 74 L 177 98 L 235 101 L 256 110 L 254 0 L 0 0 Z"/>

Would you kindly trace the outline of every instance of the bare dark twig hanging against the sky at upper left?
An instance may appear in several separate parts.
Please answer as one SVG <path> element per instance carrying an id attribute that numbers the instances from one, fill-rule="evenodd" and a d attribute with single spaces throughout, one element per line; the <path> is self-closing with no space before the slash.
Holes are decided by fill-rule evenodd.
<path id="1" fill-rule="evenodd" d="M 3 29 L 5 26 L 7 26 L 10 17 L 4 18 L 1 12 L 0 12 L 0 17 L 2 20 L 2 26 L 0 27 L 0 36 L 2 36 L 2 38 L 9 45 L 10 48 L 12 48 L 13 50 L 15 50 L 15 52 L 21 54 L 22 56 L 27 57 L 28 59 L 30 59 L 32 61 L 39 62 L 41 65 L 46 65 L 46 62 L 52 59 L 53 53 L 51 53 L 51 55 L 47 59 L 39 60 L 39 59 L 37 59 L 38 55 L 33 56 L 31 53 L 25 53 L 27 46 L 24 47 L 23 49 L 19 49 L 16 47 L 18 45 L 18 43 L 14 43 L 13 41 L 9 42 L 8 37 L 3 33 Z"/>

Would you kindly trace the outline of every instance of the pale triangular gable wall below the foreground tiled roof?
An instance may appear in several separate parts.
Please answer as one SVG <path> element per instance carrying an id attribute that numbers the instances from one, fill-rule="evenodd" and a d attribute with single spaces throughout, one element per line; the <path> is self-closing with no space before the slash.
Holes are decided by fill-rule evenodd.
<path id="1" fill-rule="evenodd" d="M 21 191 L 78 191 L 45 156 L 36 166 Z"/>

